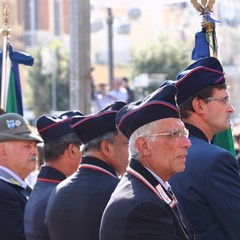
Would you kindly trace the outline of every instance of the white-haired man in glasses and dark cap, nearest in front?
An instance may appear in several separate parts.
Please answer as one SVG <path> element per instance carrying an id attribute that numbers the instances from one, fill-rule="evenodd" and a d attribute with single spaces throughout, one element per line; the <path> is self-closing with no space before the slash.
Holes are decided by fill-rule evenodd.
<path id="1" fill-rule="evenodd" d="M 100 240 L 196 239 L 167 182 L 184 171 L 191 146 L 176 93 L 166 86 L 117 114 L 130 163 L 103 213 Z"/>

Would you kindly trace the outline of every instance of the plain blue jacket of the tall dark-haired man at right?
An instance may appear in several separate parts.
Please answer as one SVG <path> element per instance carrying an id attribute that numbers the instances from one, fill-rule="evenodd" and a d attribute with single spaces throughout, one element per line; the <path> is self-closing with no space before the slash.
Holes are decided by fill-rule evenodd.
<path id="1" fill-rule="evenodd" d="M 235 157 L 210 144 L 196 127 L 186 169 L 170 179 L 172 189 L 202 240 L 240 239 L 240 176 Z"/>

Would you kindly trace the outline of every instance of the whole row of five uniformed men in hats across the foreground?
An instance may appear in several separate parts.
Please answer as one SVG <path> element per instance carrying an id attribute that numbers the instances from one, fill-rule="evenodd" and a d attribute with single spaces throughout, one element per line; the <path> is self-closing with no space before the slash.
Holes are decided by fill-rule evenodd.
<path id="1" fill-rule="evenodd" d="M 240 239 L 239 165 L 212 143 L 235 110 L 221 63 L 202 58 L 139 101 L 127 85 L 101 85 L 93 114 L 40 116 L 37 132 L 0 115 L 0 239 Z"/>

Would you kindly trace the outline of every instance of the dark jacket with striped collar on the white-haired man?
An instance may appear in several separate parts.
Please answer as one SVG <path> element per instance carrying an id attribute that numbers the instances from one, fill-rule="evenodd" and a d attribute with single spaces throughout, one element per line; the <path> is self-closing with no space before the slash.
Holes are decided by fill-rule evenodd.
<path id="1" fill-rule="evenodd" d="M 170 207 L 156 194 L 154 189 L 159 184 L 146 168 L 132 159 L 104 211 L 100 240 L 195 239 L 181 207 Z M 172 199 L 163 191 L 163 196 Z"/>

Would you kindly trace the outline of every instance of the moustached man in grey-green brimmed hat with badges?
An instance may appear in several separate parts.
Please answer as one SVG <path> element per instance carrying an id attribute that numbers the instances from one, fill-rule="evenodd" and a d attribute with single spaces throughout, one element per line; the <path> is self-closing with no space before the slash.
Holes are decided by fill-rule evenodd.
<path id="1" fill-rule="evenodd" d="M 25 178 L 35 169 L 40 142 L 21 115 L 0 116 L 0 239 L 26 239 L 23 215 L 31 189 Z"/>

